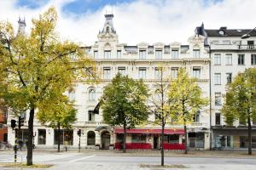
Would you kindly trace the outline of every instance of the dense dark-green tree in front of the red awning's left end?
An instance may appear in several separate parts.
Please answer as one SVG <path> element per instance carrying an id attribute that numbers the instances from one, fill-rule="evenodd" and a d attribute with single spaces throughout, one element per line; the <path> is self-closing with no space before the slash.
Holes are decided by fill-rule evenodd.
<path id="1" fill-rule="evenodd" d="M 123 126 L 123 151 L 126 151 L 126 129 L 134 128 L 148 118 L 148 88 L 142 80 L 134 81 L 117 74 L 104 88 L 102 111 L 104 122 L 112 126 Z"/>

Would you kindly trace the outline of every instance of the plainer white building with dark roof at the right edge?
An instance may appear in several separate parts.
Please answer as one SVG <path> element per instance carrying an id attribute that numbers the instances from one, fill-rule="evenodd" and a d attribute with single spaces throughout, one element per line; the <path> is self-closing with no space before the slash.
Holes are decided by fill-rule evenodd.
<path id="1" fill-rule="evenodd" d="M 221 108 L 224 103 L 226 84 L 236 77 L 238 72 L 256 66 L 256 31 L 249 38 L 241 36 L 252 30 L 227 29 L 220 27 L 207 30 L 204 26 L 197 27 L 195 33 L 206 37 L 206 44 L 211 48 L 211 126 L 212 147 L 224 149 L 247 148 L 246 122 L 237 121 L 234 126 L 227 127 Z M 256 120 L 253 120 L 253 148 L 256 148 Z"/>

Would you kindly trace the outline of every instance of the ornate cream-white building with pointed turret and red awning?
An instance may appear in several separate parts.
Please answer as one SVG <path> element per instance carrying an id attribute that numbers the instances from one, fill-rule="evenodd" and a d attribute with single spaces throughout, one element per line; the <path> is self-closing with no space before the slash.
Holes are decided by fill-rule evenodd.
<path id="1" fill-rule="evenodd" d="M 194 35 L 189 37 L 188 45 L 179 42 L 164 44 L 140 42 L 137 45 L 119 43 L 119 37 L 113 27 L 113 14 L 105 14 L 105 24 L 98 34 L 98 41 L 90 47 L 83 47 L 85 53 L 96 60 L 97 70 L 102 72 L 102 81 L 96 85 L 79 82 L 68 95 L 75 100 L 78 109 L 78 121 L 72 130 L 62 130 L 61 144 L 67 141 L 70 147 L 79 146 L 78 129 L 82 130 L 81 147 L 90 148 L 99 144 L 108 149 L 109 144 L 116 144 L 122 136 L 122 130 L 109 127 L 102 121 L 102 111 L 95 114 L 94 109 L 102 96 L 103 88 L 118 73 L 129 75 L 134 79 L 143 78 L 150 89 L 159 81 L 159 66 L 165 68 L 165 76 L 177 76 L 180 67 L 186 68 L 191 77 L 197 77 L 204 97 L 210 96 L 210 58 L 209 46 L 205 45 L 205 37 Z M 172 41 L 172 40 L 170 40 Z M 207 108 L 206 110 L 209 110 Z M 154 120 L 154 116 L 149 116 Z M 28 119 L 28 116 L 26 117 Z M 26 126 L 22 127 L 19 139 L 26 142 Z M 201 111 L 195 116 L 195 122 L 189 125 L 189 147 L 209 149 L 210 147 L 210 114 Z M 138 126 L 128 130 L 128 148 L 159 149 L 160 127 Z M 170 124 L 166 126 L 165 143 L 173 144 L 174 148 L 182 146 L 183 127 Z M 34 143 L 37 147 L 55 147 L 56 131 L 34 123 Z M 14 133 L 9 127 L 9 142 L 14 144 Z M 138 146 L 140 144 L 140 146 Z"/>

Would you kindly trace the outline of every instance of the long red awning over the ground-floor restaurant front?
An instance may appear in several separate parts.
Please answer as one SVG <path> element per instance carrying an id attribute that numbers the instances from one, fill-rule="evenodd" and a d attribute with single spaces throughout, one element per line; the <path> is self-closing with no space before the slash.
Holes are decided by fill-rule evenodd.
<path id="1" fill-rule="evenodd" d="M 146 134 L 160 134 L 162 129 L 149 129 L 149 128 L 134 128 L 127 129 L 126 133 L 146 133 Z M 123 128 L 115 128 L 114 133 L 124 133 Z M 183 129 L 165 129 L 165 134 L 184 134 Z"/>

